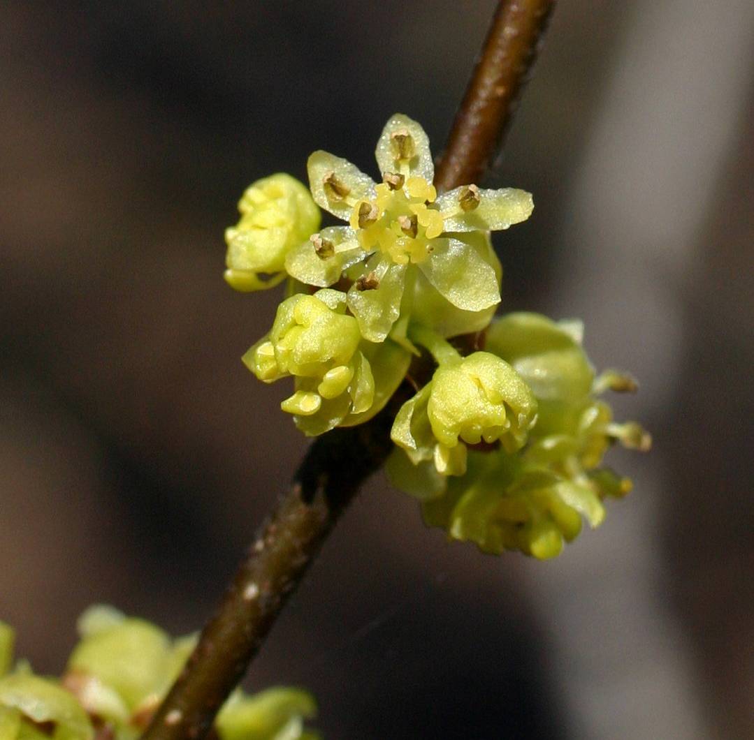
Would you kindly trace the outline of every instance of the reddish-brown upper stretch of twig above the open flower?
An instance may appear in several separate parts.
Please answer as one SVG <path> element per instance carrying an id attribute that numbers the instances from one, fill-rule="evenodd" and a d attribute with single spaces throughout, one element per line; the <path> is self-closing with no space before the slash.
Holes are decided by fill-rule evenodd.
<path id="1" fill-rule="evenodd" d="M 513 117 L 555 0 L 501 2 L 434 175 L 440 191 L 480 182 Z"/>

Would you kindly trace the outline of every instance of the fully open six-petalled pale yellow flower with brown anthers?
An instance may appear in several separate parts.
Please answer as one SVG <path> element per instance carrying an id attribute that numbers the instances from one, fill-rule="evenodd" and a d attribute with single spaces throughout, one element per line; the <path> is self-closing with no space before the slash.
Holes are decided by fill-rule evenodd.
<path id="1" fill-rule="evenodd" d="M 438 196 L 427 134 L 405 115 L 390 118 L 375 155 L 379 184 L 326 151 L 309 157 L 314 200 L 348 226 L 326 228 L 292 249 L 288 273 L 321 287 L 345 274 L 352 283 L 348 308 L 363 337 L 373 342 L 391 332 L 402 301 L 412 303 L 417 280 L 425 280 L 456 310 L 477 313 L 498 304 L 495 255 L 469 237 L 526 220 L 532 196 L 476 185 Z"/>

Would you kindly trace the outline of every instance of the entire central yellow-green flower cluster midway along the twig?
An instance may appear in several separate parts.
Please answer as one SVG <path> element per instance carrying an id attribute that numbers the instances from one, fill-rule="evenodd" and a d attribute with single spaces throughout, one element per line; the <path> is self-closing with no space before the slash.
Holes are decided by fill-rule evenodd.
<path id="1" fill-rule="evenodd" d="M 281 408 L 309 436 L 369 420 L 408 378 L 416 392 L 391 433 L 395 485 L 454 539 L 556 555 L 582 516 L 596 526 L 602 499 L 629 488 L 602 456 L 615 440 L 646 448 L 648 435 L 615 424 L 595 396 L 636 384 L 594 377 L 577 323 L 492 321 L 502 271 L 489 233 L 528 219 L 529 193 L 469 184 L 438 194 L 427 135 L 405 115 L 390 118 L 375 156 L 381 182 L 315 151 L 309 191 L 274 175 L 244 194 L 225 234 L 226 280 L 250 291 L 288 278 L 244 362 L 265 383 L 293 377 Z M 346 225 L 318 231 L 317 206 Z M 484 350 L 464 356 L 461 335 L 486 336 Z M 426 381 L 426 363 L 412 362 L 424 356 L 435 365 Z"/>

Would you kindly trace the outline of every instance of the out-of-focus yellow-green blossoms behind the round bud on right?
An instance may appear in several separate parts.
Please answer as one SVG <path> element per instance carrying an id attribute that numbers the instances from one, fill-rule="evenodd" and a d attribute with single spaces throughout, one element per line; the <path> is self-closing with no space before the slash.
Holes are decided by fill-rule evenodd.
<path id="1" fill-rule="evenodd" d="M 593 387 L 633 390 L 635 383 L 615 371 L 595 380 L 580 339 L 578 323 L 534 313 L 493 323 L 486 347 L 532 389 L 538 417 L 523 448 L 470 451 L 459 478 L 439 475 L 426 461 L 414 466 L 396 451 L 391 479 L 424 502 L 428 524 L 486 552 L 518 549 L 551 558 L 581 531 L 582 516 L 596 527 L 605 517 L 602 500 L 630 491 L 628 479 L 600 467 L 602 457 L 614 440 L 648 449 L 649 436 L 638 424 L 613 424 Z"/>

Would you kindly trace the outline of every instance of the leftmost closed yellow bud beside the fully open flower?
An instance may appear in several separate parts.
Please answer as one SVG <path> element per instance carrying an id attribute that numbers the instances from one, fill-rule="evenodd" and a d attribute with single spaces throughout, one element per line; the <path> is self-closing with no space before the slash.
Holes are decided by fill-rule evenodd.
<path id="1" fill-rule="evenodd" d="M 276 286 L 287 253 L 319 228 L 320 209 L 305 185 L 278 173 L 250 185 L 238 210 L 241 220 L 225 229 L 225 280 L 241 292 Z"/>

